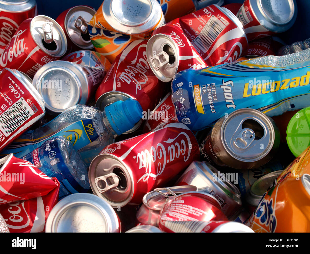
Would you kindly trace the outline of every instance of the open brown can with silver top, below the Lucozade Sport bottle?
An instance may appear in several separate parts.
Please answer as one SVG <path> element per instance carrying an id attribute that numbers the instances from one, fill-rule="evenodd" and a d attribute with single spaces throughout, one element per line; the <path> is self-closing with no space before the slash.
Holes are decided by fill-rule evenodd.
<path id="1" fill-rule="evenodd" d="M 270 161 L 280 144 L 274 121 L 256 109 L 220 118 L 200 145 L 201 156 L 219 166 L 252 169 Z"/>

